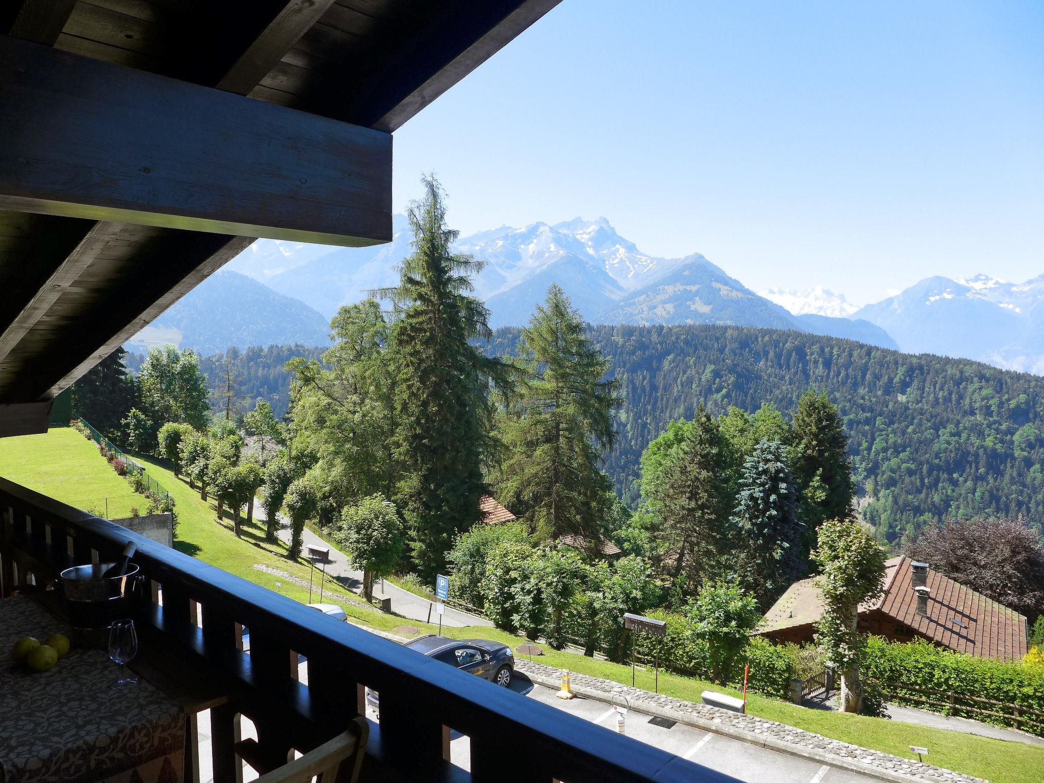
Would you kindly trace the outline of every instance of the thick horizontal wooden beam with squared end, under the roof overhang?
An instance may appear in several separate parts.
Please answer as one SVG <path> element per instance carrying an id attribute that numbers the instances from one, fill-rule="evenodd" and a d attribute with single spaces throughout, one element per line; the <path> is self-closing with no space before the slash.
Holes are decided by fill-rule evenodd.
<path id="1" fill-rule="evenodd" d="M 0 209 L 375 244 L 392 137 L 0 38 Z"/>

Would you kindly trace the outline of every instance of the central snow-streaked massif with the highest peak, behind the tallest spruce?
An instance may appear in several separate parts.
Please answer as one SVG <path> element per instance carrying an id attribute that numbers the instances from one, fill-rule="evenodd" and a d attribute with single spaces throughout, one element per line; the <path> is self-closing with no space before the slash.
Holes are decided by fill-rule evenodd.
<path id="1" fill-rule="evenodd" d="M 260 240 L 229 268 L 332 316 L 340 305 L 396 283 L 396 266 L 410 253 L 409 226 L 405 216 L 396 215 L 387 244 L 319 250 Z M 522 229 L 504 226 L 464 237 L 456 250 L 485 262 L 474 285 L 494 328 L 527 324 L 548 287 L 557 283 L 591 323 L 773 327 L 896 348 L 870 323 L 792 315 L 699 254 L 669 259 L 642 253 L 603 217 Z"/>

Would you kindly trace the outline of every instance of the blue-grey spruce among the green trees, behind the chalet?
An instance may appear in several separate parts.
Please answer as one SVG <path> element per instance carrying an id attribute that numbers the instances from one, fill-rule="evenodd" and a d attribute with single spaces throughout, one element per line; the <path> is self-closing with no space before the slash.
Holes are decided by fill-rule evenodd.
<path id="1" fill-rule="evenodd" d="M 778 441 L 760 442 L 743 462 L 731 522 L 738 580 L 767 607 L 804 566 L 797 487 Z"/>

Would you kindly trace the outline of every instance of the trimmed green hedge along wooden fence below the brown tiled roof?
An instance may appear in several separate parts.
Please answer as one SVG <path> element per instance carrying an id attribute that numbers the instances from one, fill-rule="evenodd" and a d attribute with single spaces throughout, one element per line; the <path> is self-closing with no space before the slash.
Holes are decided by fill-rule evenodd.
<path id="1" fill-rule="evenodd" d="M 1044 666 L 1000 663 L 942 649 L 927 641 L 889 642 L 870 637 L 862 672 L 888 691 L 888 701 L 943 714 L 963 715 L 997 726 L 1020 728 L 1044 736 L 1044 715 L 1022 714 L 1015 706 L 1044 713 Z M 923 688 L 938 693 L 922 693 Z M 953 708 L 949 707 L 953 694 Z M 1006 706 L 981 704 L 968 696 L 989 698 Z M 942 702 L 928 705 L 919 699 Z M 987 715 L 990 710 L 1001 715 Z"/>

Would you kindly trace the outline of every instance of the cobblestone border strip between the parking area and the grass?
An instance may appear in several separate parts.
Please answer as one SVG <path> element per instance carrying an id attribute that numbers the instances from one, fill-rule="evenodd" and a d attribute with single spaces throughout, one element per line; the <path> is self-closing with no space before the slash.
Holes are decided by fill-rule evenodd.
<path id="1" fill-rule="evenodd" d="M 515 668 L 538 685 L 555 689 L 560 687 L 561 669 L 524 659 L 516 659 Z M 764 720 L 753 715 L 740 715 L 716 707 L 683 702 L 671 696 L 657 695 L 589 674 L 571 671 L 570 681 L 573 691 L 580 696 L 609 703 L 613 690 L 622 688 L 623 694 L 631 702 L 631 709 L 636 712 L 659 715 L 704 731 L 722 734 L 741 742 L 768 748 L 791 756 L 801 756 L 860 775 L 869 775 L 888 783 L 914 781 L 984 783 L 981 778 L 828 739 L 804 729 Z"/>

